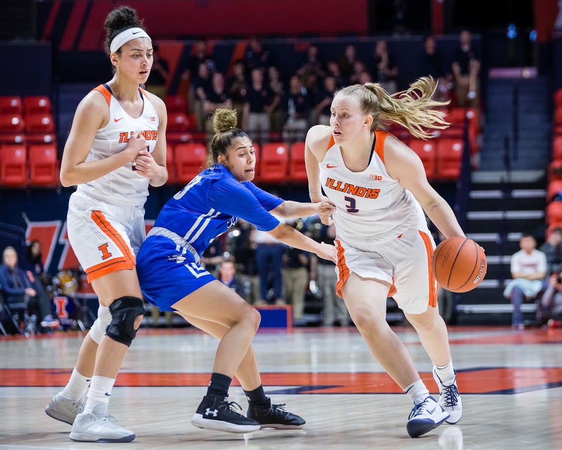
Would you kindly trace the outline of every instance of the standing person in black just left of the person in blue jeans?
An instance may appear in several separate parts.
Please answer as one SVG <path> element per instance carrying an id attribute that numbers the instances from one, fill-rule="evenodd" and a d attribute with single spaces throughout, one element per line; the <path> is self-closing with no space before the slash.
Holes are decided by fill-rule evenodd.
<path id="1" fill-rule="evenodd" d="M 237 228 L 240 236 L 236 240 L 233 251 L 234 260 L 238 266 L 237 272 L 244 277 L 244 285 L 247 287 L 244 298 L 253 305 L 260 300 L 260 276 L 256 264 L 257 245 L 254 242 L 256 227 L 243 219 L 238 219 Z"/>

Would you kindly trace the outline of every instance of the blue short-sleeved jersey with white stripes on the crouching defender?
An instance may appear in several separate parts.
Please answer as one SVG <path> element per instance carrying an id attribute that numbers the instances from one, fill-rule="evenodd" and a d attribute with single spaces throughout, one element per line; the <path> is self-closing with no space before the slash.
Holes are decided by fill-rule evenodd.
<path id="1" fill-rule="evenodd" d="M 258 230 L 273 230 L 279 221 L 269 211 L 283 201 L 252 182 L 238 182 L 230 170 L 215 164 L 193 178 L 164 205 L 154 228 L 169 231 L 170 236 L 184 240 L 201 255 L 210 242 L 233 227 L 238 218 L 254 224 Z"/>

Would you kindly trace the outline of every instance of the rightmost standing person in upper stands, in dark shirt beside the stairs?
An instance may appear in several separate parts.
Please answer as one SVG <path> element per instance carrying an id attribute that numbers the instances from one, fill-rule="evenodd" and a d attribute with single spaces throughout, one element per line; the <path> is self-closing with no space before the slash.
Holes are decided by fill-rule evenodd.
<path id="1" fill-rule="evenodd" d="M 455 80 L 456 104 L 459 107 L 477 108 L 479 102 L 480 59 L 472 45 L 470 31 L 459 35 L 459 48 L 455 53 L 452 71 Z"/>

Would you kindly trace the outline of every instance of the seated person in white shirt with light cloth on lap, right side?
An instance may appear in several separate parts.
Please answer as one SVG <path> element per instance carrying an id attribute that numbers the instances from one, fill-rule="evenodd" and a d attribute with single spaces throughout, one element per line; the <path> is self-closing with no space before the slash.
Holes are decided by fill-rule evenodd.
<path id="1" fill-rule="evenodd" d="M 532 235 L 523 235 L 519 240 L 521 250 L 511 256 L 511 278 L 504 290 L 505 298 L 513 304 L 511 326 L 523 330 L 523 314 L 521 305 L 537 298 L 547 283 L 546 255 L 537 250 L 537 241 Z"/>

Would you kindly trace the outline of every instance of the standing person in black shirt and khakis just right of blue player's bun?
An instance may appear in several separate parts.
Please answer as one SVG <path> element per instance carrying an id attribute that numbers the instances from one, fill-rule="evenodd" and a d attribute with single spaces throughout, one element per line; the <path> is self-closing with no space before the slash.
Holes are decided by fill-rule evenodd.
<path id="1" fill-rule="evenodd" d="M 253 69 L 252 83 L 246 92 L 244 105 L 244 128 L 252 141 L 262 143 L 268 140 L 269 116 L 277 108 L 279 101 L 279 96 L 264 83 L 264 72 L 261 69 Z"/>

